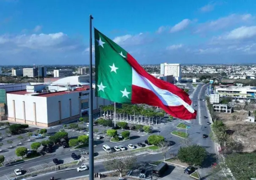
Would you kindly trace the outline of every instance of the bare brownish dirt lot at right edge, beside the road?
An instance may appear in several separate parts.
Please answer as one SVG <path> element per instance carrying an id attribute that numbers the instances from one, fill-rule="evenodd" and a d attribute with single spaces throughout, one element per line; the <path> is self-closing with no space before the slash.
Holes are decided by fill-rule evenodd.
<path id="1" fill-rule="evenodd" d="M 228 129 L 234 130 L 232 136 L 236 141 L 242 143 L 245 152 L 256 150 L 256 123 L 244 121 L 248 111 L 236 110 L 232 114 L 216 112 L 216 115 L 219 120 L 223 120 Z"/>

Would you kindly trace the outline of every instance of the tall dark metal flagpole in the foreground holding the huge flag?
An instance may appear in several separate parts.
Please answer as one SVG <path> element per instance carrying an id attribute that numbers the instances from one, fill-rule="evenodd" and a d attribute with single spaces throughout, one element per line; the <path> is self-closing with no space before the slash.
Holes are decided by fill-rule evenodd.
<path id="1" fill-rule="evenodd" d="M 93 117 L 92 117 L 92 15 L 89 16 L 89 28 L 90 28 L 90 89 L 89 89 L 89 180 L 94 180 L 94 147 L 93 147 Z"/>

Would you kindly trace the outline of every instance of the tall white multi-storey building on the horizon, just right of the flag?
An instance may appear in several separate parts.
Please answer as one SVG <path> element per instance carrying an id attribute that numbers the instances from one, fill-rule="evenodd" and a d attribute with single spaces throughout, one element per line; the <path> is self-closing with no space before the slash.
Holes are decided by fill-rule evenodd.
<path id="1" fill-rule="evenodd" d="M 160 64 L 160 74 L 162 76 L 173 75 L 176 81 L 180 82 L 181 80 L 181 65 L 180 64 Z"/>

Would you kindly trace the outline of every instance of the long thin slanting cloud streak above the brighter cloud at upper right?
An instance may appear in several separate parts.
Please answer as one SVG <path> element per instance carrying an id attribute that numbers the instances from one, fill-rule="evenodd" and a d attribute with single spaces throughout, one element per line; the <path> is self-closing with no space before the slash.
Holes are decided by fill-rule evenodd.
<path id="1" fill-rule="evenodd" d="M 209 31 L 223 30 L 234 25 L 250 23 L 254 17 L 251 14 L 231 14 L 214 21 L 201 23 L 195 30 L 195 33 L 204 33 Z"/>

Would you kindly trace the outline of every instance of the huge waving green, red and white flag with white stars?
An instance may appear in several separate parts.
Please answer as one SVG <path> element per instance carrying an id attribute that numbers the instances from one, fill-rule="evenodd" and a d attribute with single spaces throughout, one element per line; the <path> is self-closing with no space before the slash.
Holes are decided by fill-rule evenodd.
<path id="1" fill-rule="evenodd" d="M 183 120 L 196 118 L 184 90 L 148 74 L 134 57 L 96 28 L 94 35 L 97 97 L 117 103 L 158 106 Z"/>

